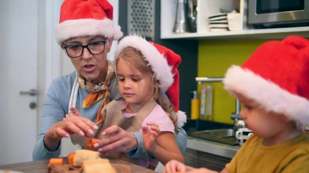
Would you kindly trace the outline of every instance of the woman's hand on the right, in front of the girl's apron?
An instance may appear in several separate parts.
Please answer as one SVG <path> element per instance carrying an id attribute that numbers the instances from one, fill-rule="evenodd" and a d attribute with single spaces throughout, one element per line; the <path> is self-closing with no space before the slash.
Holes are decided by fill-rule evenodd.
<path id="1" fill-rule="evenodd" d="M 101 134 L 102 140 L 94 145 L 101 153 L 124 152 L 137 149 L 135 136 L 117 125 L 110 126 Z"/>

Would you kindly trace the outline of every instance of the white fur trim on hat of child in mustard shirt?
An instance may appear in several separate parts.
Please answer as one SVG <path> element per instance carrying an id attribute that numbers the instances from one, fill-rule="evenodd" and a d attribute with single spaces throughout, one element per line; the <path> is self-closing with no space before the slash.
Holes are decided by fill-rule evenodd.
<path id="1" fill-rule="evenodd" d="M 239 93 L 259 103 L 267 111 L 282 113 L 297 123 L 309 125 L 309 101 L 265 80 L 249 69 L 232 66 L 223 80 L 232 95 Z"/>

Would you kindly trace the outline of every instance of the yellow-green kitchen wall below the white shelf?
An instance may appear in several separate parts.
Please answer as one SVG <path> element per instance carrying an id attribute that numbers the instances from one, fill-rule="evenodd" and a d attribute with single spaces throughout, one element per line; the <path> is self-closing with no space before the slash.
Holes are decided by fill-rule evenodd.
<path id="1" fill-rule="evenodd" d="M 241 65 L 265 41 L 267 40 L 200 41 L 198 77 L 223 77 L 231 65 Z M 207 120 L 232 124 L 230 115 L 235 112 L 235 99 L 223 89 L 222 83 L 210 84 L 213 86 L 213 107 L 212 117 Z M 198 85 L 199 98 L 200 91 L 201 84 Z"/>

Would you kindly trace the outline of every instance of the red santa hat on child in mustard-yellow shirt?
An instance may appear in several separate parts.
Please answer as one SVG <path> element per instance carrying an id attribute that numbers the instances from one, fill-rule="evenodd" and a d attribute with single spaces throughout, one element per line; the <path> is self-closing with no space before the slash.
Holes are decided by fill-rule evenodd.
<path id="1" fill-rule="evenodd" d="M 309 125 L 309 40 L 289 36 L 266 42 L 241 67 L 230 67 L 223 82 L 229 93 Z"/>

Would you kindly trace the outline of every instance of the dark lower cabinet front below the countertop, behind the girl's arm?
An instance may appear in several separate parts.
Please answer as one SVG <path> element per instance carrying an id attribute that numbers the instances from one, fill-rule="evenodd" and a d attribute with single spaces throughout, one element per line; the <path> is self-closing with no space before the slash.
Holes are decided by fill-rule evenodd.
<path id="1" fill-rule="evenodd" d="M 221 171 L 231 158 L 210 154 L 187 148 L 183 154 L 184 163 L 192 167 L 206 167 L 211 170 Z"/>

